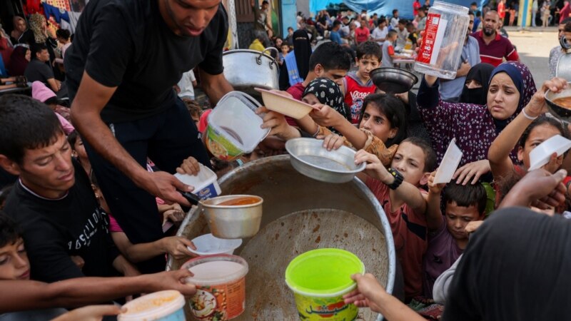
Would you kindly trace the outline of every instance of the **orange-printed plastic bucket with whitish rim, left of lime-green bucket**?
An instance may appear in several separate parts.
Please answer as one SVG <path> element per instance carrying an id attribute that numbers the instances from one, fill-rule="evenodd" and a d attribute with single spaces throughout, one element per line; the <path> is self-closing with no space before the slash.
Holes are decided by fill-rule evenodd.
<path id="1" fill-rule="evenodd" d="M 231 320 L 246 307 L 248 263 L 236 255 L 211 255 L 184 263 L 181 269 L 193 272 L 187 282 L 196 285 L 189 300 L 196 320 Z"/>

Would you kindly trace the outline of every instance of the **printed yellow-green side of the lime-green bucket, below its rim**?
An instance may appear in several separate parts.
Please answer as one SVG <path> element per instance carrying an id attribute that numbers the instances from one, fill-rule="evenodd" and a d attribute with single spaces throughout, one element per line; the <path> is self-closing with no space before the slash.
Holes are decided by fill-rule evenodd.
<path id="1" fill-rule="evenodd" d="M 350 321 L 355 320 L 358 314 L 358 308 L 346 305 L 343 296 L 306 297 L 298 293 L 294 296 L 300 320 Z"/>

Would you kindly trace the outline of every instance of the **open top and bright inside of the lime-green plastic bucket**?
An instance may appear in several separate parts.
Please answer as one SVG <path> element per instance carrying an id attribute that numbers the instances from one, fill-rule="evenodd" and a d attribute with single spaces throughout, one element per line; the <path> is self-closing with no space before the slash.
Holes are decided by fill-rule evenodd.
<path id="1" fill-rule="evenodd" d="M 365 265 L 353 253 L 323 248 L 294 258 L 285 269 L 285 283 L 302 295 L 333 297 L 353 290 L 351 275 L 364 272 Z"/>

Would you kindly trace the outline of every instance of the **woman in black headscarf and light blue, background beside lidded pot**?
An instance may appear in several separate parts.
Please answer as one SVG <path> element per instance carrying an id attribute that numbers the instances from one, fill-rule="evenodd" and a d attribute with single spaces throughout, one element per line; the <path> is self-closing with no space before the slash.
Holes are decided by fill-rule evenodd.
<path id="1" fill-rule="evenodd" d="M 307 31 L 301 29 L 295 31 L 293 33 L 293 51 L 285 56 L 281 66 L 281 89 L 285 90 L 295 83 L 300 83 L 308 76 L 309 56 L 311 56 L 311 43 Z"/>

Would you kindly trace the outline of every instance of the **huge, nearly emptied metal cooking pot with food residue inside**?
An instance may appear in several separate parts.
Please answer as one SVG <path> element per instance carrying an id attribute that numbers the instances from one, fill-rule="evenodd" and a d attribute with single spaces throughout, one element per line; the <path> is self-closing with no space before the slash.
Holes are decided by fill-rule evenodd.
<path id="1" fill-rule="evenodd" d="M 285 267 L 300 253 L 315 248 L 340 248 L 357 255 L 366 272 L 378 277 L 389 293 L 395 288 L 393 235 L 383 208 L 358 178 L 330 184 L 298 173 L 290 156 L 262 158 L 224 175 L 223 194 L 258 195 L 264 199 L 260 231 L 244 239 L 235 254 L 248 262 L 246 311 L 236 320 L 298 320 L 293 292 L 285 285 Z M 193 209 L 177 235 L 188 239 L 209 233 L 206 219 Z M 184 260 L 169 255 L 168 268 Z M 398 284 L 398 283 L 397 283 Z M 191 319 L 188 303 L 185 306 Z M 382 320 L 360 309 L 356 320 Z"/>

